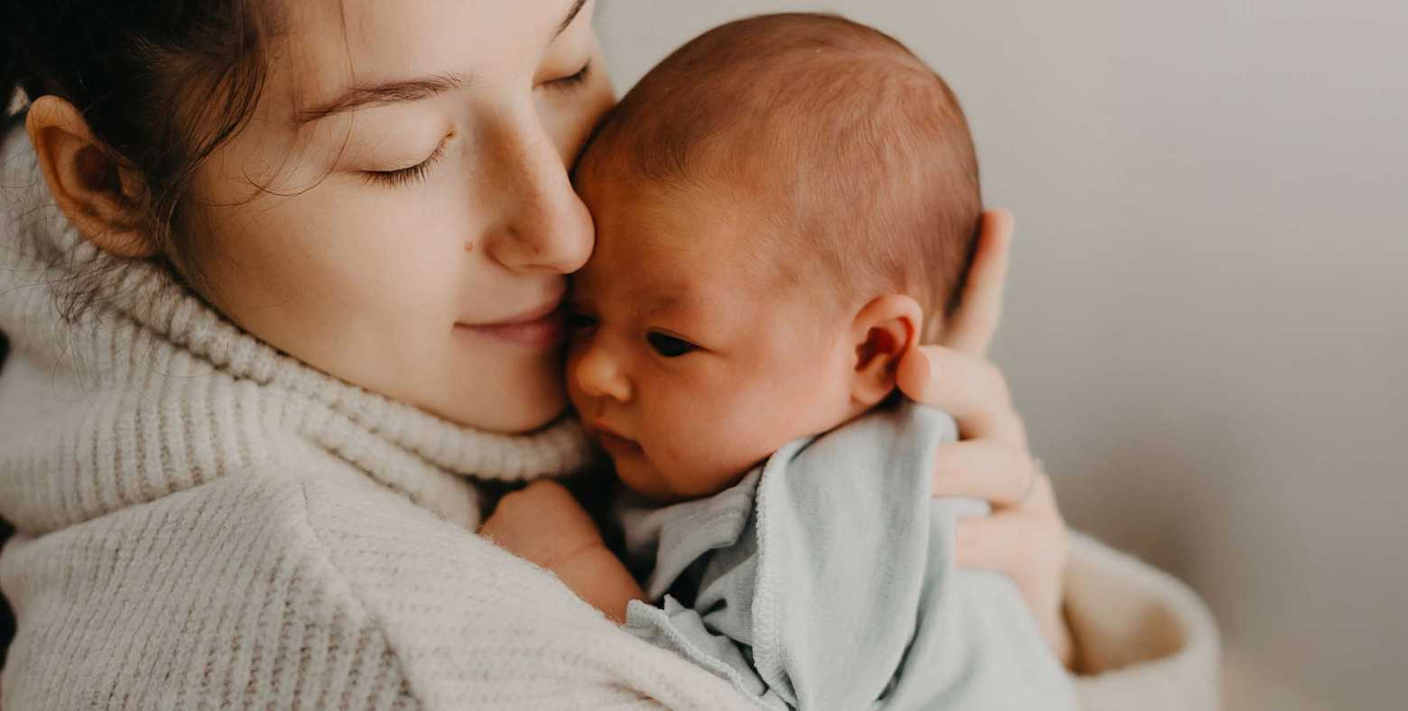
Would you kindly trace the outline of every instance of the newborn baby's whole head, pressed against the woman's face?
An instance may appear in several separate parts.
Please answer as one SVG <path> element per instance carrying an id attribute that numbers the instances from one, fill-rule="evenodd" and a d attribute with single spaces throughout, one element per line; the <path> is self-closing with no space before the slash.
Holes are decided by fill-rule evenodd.
<path id="1" fill-rule="evenodd" d="M 576 180 L 597 246 L 573 282 L 569 391 L 656 500 L 717 493 L 883 401 L 956 306 L 981 213 L 949 87 L 829 15 L 684 45 Z"/>

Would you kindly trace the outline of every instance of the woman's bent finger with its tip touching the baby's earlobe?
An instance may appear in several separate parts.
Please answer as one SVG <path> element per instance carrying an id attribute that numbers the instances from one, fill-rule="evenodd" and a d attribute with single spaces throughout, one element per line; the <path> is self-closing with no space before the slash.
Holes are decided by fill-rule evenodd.
<path id="1" fill-rule="evenodd" d="M 895 383 L 910 400 L 952 414 L 963 439 L 991 438 L 1026 449 L 1007 380 L 990 360 L 943 346 L 911 348 L 900 359 Z"/>

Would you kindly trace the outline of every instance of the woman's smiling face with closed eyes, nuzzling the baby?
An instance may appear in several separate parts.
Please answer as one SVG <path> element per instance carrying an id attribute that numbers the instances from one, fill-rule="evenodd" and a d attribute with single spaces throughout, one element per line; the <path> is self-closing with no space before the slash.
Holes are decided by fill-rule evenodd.
<path id="1" fill-rule="evenodd" d="M 567 170 L 614 100 L 596 0 L 284 1 L 255 117 L 197 177 L 207 298 L 367 390 L 546 424 L 593 245 Z"/>

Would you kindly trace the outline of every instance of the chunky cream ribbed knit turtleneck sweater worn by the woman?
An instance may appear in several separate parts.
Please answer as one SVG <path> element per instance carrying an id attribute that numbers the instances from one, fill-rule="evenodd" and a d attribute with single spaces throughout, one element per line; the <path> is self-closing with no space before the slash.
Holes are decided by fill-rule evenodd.
<path id="1" fill-rule="evenodd" d="M 473 479 L 580 467 L 565 421 L 505 436 L 341 383 L 161 269 L 108 263 L 0 152 L 0 590 L 6 710 L 746 708 L 472 534 Z M 107 272 L 104 272 L 107 273 Z M 1086 707 L 1211 708 L 1217 635 L 1186 589 L 1079 541 Z M 1108 611 L 1108 612 L 1107 612 Z M 1150 622 L 1152 621 L 1152 622 Z"/>

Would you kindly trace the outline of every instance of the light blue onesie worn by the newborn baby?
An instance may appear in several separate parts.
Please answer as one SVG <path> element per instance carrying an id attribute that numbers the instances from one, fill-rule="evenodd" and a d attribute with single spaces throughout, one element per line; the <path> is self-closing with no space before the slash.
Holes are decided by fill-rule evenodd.
<path id="1" fill-rule="evenodd" d="M 1074 711 L 1017 586 L 953 565 L 955 520 L 986 512 L 929 496 L 955 434 L 905 403 L 794 441 L 712 497 L 625 497 L 627 556 L 662 605 L 632 601 L 627 629 L 765 708 Z"/>

